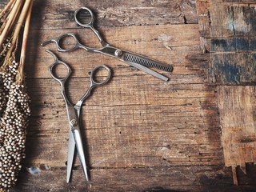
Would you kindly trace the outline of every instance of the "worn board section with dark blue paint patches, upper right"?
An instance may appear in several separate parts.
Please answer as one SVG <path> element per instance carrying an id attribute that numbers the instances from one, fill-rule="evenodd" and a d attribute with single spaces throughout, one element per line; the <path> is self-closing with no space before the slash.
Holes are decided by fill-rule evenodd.
<path id="1" fill-rule="evenodd" d="M 255 9 L 253 6 L 210 7 L 211 84 L 251 85 L 256 82 Z"/>

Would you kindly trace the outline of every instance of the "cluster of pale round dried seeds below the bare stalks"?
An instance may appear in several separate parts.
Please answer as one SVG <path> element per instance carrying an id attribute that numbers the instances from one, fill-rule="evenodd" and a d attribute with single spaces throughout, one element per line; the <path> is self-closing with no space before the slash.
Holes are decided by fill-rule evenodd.
<path id="1" fill-rule="evenodd" d="M 0 192 L 9 190 L 17 181 L 22 158 L 25 158 L 30 116 L 30 98 L 24 86 L 15 82 L 18 63 L 11 63 L 12 66 L 0 71 Z"/>

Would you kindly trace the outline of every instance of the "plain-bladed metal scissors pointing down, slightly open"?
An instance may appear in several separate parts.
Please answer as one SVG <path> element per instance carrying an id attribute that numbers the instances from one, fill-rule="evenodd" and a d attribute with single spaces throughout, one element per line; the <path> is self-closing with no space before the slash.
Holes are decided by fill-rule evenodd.
<path id="1" fill-rule="evenodd" d="M 75 147 L 77 148 L 77 151 L 78 151 L 78 157 L 82 165 L 83 173 L 85 174 L 86 180 L 89 181 L 89 177 L 86 170 L 86 158 L 85 158 L 85 153 L 82 145 L 82 136 L 80 134 L 80 126 L 79 126 L 80 110 L 82 108 L 82 103 L 84 102 L 84 100 L 90 96 L 91 90 L 93 90 L 94 87 L 96 86 L 104 85 L 106 82 L 110 80 L 111 70 L 109 67 L 105 65 L 99 65 L 94 67 L 94 69 L 91 70 L 90 72 L 90 86 L 88 90 L 86 90 L 86 93 L 82 96 L 82 98 L 80 98 L 80 100 L 75 105 L 72 105 L 68 100 L 68 98 L 66 97 L 66 91 L 65 91 L 65 82 L 70 77 L 72 70 L 70 69 L 70 66 L 68 66 L 65 62 L 58 60 L 58 58 L 53 52 L 51 52 L 50 50 L 46 50 L 46 51 L 54 57 L 54 62 L 49 66 L 49 72 L 52 78 L 58 81 L 61 85 L 61 93 L 66 104 L 67 117 L 68 117 L 69 126 L 70 126 L 66 182 L 70 182 L 70 175 L 71 175 L 71 170 L 72 170 L 72 165 L 74 160 Z M 66 67 L 66 70 L 67 70 L 66 77 L 61 78 L 55 74 L 54 70 L 56 70 L 55 67 L 58 65 L 63 65 Z M 96 71 L 99 69 L 103 69 L 108 72 L 108 76 L 102 82 L 97 82 L 96 80 L 94 80 L 94 75 Z"/>

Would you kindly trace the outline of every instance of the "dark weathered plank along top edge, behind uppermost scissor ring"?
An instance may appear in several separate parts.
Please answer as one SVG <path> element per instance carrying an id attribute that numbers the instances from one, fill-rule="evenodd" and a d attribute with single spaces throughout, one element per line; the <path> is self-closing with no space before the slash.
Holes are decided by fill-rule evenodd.
<path id="1" fill-rule="evenodd" d="M 97 26 L 141 26 L 197 23 L 195 1 L 36 1 L 31 22 L 34 29 L 70 29 L 74 24 L 74 10 L 88 6 L 97 15 Z M 43 25 L 42 25 L 43 22 Z"/>

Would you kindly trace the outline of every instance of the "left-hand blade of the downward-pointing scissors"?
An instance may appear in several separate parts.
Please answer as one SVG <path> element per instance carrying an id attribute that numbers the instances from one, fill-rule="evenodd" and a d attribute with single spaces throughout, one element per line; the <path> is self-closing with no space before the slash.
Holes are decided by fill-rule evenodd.
<path id="1" fill-rule="evenodd" d="M 75 142 L 74 136 L 72 131 L 69 131 L 69 144 L 68 144 L 68 154 L 67 154 L 67 168 L 66 168 L 66 182 L 70 182 L 70 175 L 73 166 L 74 160 L 74 149 L 75 149 Z"/>

